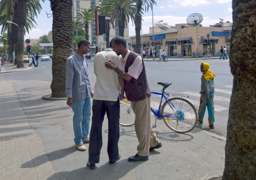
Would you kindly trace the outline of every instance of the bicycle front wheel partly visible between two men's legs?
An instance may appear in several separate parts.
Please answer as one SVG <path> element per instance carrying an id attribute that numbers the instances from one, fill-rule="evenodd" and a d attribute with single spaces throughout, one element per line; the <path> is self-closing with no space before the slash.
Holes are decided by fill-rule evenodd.
<path id="1" fill-rule="evenodd" d="M 120 119 L 119 124 L 122 126 L 132 126 L 135 122 L 135 114 L 132 109 L 131 101 L 126 98 L 120 100 Z"/>

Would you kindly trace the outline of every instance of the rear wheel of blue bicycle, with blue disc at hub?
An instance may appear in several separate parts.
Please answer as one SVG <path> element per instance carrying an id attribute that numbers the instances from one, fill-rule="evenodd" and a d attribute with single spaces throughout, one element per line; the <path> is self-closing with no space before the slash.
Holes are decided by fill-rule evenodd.
<path id="1" fill-rule="evenodd" d="M 185 98 L 171 98 L 163 104 L 161 114 L 164 123 L 178 133 L 189 132 L 194 129 L 198 121 L 196 108 Z"/>

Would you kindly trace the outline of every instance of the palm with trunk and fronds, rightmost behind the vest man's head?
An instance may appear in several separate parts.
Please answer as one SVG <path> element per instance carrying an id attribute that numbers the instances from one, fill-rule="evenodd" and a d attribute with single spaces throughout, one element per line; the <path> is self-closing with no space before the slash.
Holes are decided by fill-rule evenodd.
<path id="1" fill-rule="evenodd" d="M 142 7 L 145 7 L 145 12 L 149 11 L 149 8 L 153 8 L 153 5 L 156 5 L 154 0 L 133 0 L 132 3 L 137 3 L 137 12 L 135 15 L 135 33 L 136 33 L 136 51 L 138 54 L 141 54 L 141 24 L 142 24 Z"/>

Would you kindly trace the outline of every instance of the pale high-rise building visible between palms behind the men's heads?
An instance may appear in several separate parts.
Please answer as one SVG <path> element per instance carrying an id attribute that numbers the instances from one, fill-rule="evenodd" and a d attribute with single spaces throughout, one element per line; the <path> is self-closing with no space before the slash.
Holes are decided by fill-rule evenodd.
<path id="1" fill-rule="evenodd" d="M 91 6 L 97 5 L 99 3 L 98 0 L 73 0 L 73 18 L 77 17 L 77 14 L 82 12 L 84 9 L 88 10 Z M 95 24 L 95 21 L 93 21 Z M 91 23 L 89 25 L 89 42 L 91 43 L 90 53 L 96 53 L 96 32 L 95 32 L 95 25 Z M 110 27 L 109 32 L 109 39 L 118 36 L 118 24 L 115 25 L 113 29 L 112 26 Z M 124 38 L 129 38 L 129 27 L 126 27 L 124 30 Z M 101 51 L 104 51 L 106 41 L 105 41 L 105 34 L 99 36 L 99 48 Z"/>

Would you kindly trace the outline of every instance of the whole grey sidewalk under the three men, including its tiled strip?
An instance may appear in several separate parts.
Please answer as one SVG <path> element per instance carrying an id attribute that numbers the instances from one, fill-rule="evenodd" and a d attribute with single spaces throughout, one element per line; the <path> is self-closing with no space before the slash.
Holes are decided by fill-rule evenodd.
<path id="1" fill-rule="evenodd" d="M 138 145 L 134 126 L 120 126 L 121 159 L 109 164 L 107 119 L 103 122 L 100 163 L 86 167 L 87 150 L 74 144 L 73 112 L 66 101 L 47 101 L 48 81 L 1 81 L 0 179 L 178 179 L 203 180 L 223 173 L 225 138 L 193 129 L 186 134 L 170 130 L 158 120 L 155 132 L 163 144 L 148 161 L 130 162 Z M 155 120 L 154 116 L 152 123 Z"/>

